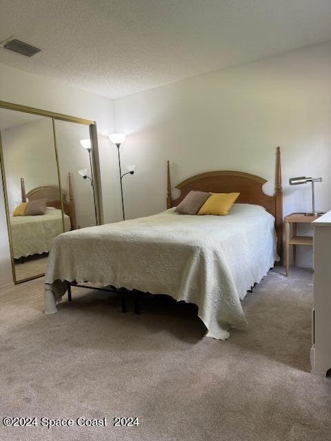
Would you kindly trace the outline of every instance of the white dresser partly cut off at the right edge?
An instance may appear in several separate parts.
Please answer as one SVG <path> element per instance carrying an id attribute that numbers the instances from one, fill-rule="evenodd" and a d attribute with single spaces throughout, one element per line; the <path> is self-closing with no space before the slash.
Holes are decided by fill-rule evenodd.
<path id="1" fill-rule="evenodd" d="M 312 373 L 331 372 L 331 211 L 314 227 L 314 306 L 312 309 Z"/>

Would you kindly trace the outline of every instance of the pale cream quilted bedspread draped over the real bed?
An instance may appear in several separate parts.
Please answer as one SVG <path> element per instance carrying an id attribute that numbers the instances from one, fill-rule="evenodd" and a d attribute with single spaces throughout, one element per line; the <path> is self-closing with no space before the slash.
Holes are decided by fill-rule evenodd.
<path id="1" fill-rule="evenodd" d="M 243 329 L 240 300 L 277 260 L 274 218 L 235 204 L 228 216 L 154 216 L 88 227 L 54 240 L 46 271 L 46 313 L 66 292 L 60 281 L 89 280 L 194 303 L 207 336 Z"/>

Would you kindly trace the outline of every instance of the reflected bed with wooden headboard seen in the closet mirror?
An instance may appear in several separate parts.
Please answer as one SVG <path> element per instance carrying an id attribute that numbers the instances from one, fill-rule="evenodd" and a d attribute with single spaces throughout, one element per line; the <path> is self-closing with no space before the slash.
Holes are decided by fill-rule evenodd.
<path id="1" fill-rule="evenodd" d="M 10 229 L 14 258 L 19 259 L 34 254 L 50 252 L 54 238 L 76 226 L 74 199 L 70 174 L 68 175 L 69 195 L 62 192 L 63 220 L 59 187 L 45 185 L 26 193 L 24 179 L 21 178 L 21 201 L 47 199 L 45 214 L 39 216 L 10 216 Z"/>

